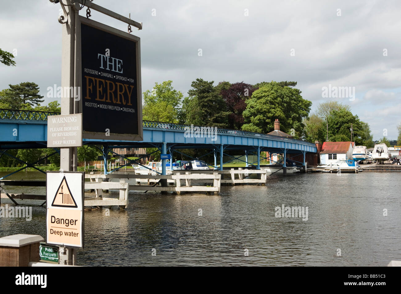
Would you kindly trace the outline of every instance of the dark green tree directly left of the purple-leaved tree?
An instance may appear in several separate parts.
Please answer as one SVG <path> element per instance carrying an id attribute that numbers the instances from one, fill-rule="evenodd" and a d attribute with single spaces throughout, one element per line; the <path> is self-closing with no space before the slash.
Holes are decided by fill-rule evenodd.
<path id="1" fill-rule="evenodd" d="M 214 81 L 208 82 L 201 78 L 191 83 L 193 89 L 188 91 L 190 97 L 184 99 L 182 109 L 188 115 L 185 119 L 187 124 L 227 128 L 229 112 L 213 83 Z"/>

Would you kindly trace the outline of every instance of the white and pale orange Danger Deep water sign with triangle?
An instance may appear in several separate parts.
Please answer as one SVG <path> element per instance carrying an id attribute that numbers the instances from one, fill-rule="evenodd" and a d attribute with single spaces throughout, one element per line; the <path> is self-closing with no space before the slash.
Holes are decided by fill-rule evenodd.
<path id="1" fill-rule="evenodd" d="M 47 172 L 47 243 L 83 247 L 82 172 Z"/>

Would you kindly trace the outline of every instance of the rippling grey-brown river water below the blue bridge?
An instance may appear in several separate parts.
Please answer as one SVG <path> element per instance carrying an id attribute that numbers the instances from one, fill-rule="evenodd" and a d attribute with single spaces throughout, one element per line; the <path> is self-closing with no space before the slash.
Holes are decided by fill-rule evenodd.
<path id="1" fill-rule="evenodd" d="M 45 175 L 19 172 L 7 179 L 21 178 L 44 180 Z M 401 260 L 400 179 L 399 172 L 291 174 L 268 176 L 266 186 L 222 186 L 219 195 L 132 192 L 126 210 L 113 207 L 110 216 L 104 208 L 85 211 L 85 248 L 78 250 L 77 262 L 86 266 L 386 266 Z M 13 189 L 45 194 L 40 187 Z M 12 203 L 1 201 L 2 206 Z M 32 220 L 0 218 L 0 236 L 46 237 L 45 208 L 39 206 L 43 201 L 19 202 L 32 206 Z M 275 208 L 282 204 L 308 207 L 308 220 L 276 217 Z"/>

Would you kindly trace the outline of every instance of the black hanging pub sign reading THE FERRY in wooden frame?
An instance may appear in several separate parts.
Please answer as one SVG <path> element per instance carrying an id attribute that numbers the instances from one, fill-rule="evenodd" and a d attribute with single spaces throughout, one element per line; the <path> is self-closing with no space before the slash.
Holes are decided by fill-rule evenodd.
<path id="1" fill-rule="evenodd" d="M 140 38 L 80 20 L 83 138 L 143 140 Z"/>

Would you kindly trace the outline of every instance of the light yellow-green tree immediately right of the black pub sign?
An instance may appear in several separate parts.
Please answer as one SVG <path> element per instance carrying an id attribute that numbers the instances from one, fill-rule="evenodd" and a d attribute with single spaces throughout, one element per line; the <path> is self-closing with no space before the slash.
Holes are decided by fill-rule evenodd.
<path id="1" fill-rule="evenodd" d="M 144 106 L 142 109 L 144 120 L 158 122 L 178 122 L 178 110 L 182 93 L 174 90 L 172 81 L 161 84 L 155 83 L 152 91 L 144 92 Z"/>

